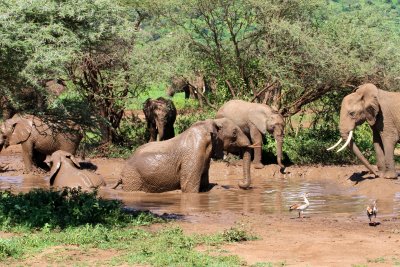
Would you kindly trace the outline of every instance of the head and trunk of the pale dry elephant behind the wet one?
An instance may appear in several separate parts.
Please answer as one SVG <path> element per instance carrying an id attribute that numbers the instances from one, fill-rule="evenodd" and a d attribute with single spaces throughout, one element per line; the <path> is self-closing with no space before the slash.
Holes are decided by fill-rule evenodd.
<path id="1" fill-rule="evenodd" d="M 254 112 L 249 115 L 249 120 L 262 134 L 265 135 L 268 132 L 274 136 L 276 141 L 277 163 L 281 168 L 285 168 L 282 164 L 282 145 L 285 136 L 285 120 L 279 112 L 266 105 L 264 106 L 263 109 L 255 109 Z"/>

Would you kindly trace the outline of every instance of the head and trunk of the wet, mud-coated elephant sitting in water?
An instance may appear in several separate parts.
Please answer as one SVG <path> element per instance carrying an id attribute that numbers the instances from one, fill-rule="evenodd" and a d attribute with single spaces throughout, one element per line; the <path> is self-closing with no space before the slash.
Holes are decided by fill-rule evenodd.
<path id="1" fill-rule="evenodd" d="M 250 140 L 242 130 L 230 119 L 215 119 L 213 124 L 213 157 L 221 155 L 223 151 L 231 148 L 240 148 L 244 150 L 243 154 L 243 180 L 239 182 L 239 187 L 247 189 L 250 187 L 250 162 L 251 148 L 257 145 L 251 145 Z"/>

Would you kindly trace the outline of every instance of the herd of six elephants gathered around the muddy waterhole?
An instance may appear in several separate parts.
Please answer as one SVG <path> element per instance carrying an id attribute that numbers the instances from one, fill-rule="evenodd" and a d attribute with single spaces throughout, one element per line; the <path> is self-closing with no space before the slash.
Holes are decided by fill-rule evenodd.
<path id="1" fill-rule="evenodd" d="M 176 109 L 171 100 L 148 99 L 144 113 L 150 142 L 140 146 L 126 161 L 120 179 L 111 188 L 125 191 L 202 192 L 210 188 L 209 168 L 212 158 L 222 158 L 224 151 L 243 152 L 243 180 L 239 187 L 251 185 L 251 150 L 253 165 L 262 168 L 261 148 L 266 133 L 276 140 L 277 163 L 283 169 L 282 146 L 285 121 L 283 116 L 264 104 L 231 100 L 217 112 L 215 119 L 194 123 L 175 136 L 173 124 Z M 378 172 L 369 164 L 352 140 L 353 130 L 367 121 L 372 128 Z M 400 135 L 400 93 L 363 84 L 347 95 L 340 111 L 338 143 L 349 147 L 376 177 L 397 178 L 394 148 Z M 83 137 L 79 125 L 33 115 L 16 114 L 0 126 L 0 151 L 20 144 L 24 171 L 36 167 L 50 171 L 54 187 L 82 187 L 85 190 L 105 186 L 99 175 L 82 170 L 74 154 Z M 50 156 L 50 167 L 45 163 Z"/>

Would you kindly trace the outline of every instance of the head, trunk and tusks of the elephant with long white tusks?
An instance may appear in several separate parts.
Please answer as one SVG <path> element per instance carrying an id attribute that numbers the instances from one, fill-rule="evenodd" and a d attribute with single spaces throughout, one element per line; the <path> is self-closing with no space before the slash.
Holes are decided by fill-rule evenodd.
<path id="1" fill-rule="evenodd" d="M 346 140 L 344 145 L 338 149 L 338 152 L 343 150 L 346 146 L 349 146 L 365 167 L 377 175 L 368 160 L 354 143 L 352 137 L 355 127 L 363 124 L 365 121 L 367 121 L 370 126 L 374 126 L 379 111 L 378 88 L 371 83 L 363 84 L 359 86 L 354 93 L 345 96 L 340 109 L 339 131 L 341 139 L 335 145 L 328 148 L 328 150 L 337 147 L 343 140 Z"/>

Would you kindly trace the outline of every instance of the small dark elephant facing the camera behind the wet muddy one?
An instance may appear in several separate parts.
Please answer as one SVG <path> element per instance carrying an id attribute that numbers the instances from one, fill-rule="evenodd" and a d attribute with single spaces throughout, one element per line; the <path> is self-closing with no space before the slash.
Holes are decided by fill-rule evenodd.
<path id="1" fill-rule="evenodd" d="M 143 104 L 143 112 L 150 132 L 150 140 L 163 141 L 175 136 L 174 123 L 176 108 L 174 103 L 163 97 L 148 98 Z"/>

